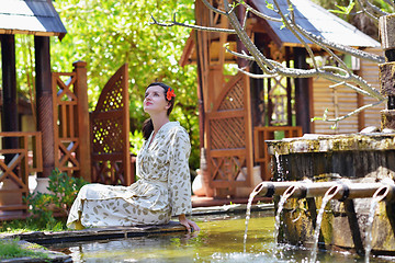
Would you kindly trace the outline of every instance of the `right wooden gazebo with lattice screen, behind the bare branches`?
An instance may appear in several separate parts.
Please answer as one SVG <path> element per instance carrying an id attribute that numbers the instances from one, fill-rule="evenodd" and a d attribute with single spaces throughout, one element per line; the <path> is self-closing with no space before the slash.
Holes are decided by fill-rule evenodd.
<path id="1" fill-rule="evenodd" d="M 221 0 L 210 1 L 221 7 Z M 248 0 L 251 7 L 269 15 L 278 15 L 267 8 L 267 1 Z M 270 1 L 269 1 L 270 2 Z M 286 1 L 282 2 L 284 10 Z M 357 48 L 373 48 L 380 53 L 380 43 L 363 34 L 353 25 L 342 21 L 327 10 L 308 0 L 294 0 L 296 22 L 318 36 L 335 43 Z M 238 18 L 244 21 L 245 10 L 238 8 Z M 247 18 L 247 33 L 256 46 L 269 58 L 289 67 L 306 69 L 306 50 L 298 39 L 282 23 L 266 21 L 251 12 Z M 228 28 L 226 18 L 208 10 L 201 0 L 195 1 L 198 25 Z M 194 32 L 184 47 L 180 65 L 196 64 L 199 73 L 199 99 L 201 121 L 201 149 L 203 178 L 206 195 L 214 197 L 246 195 L 240 190 L 250 190 L 258 180 L 270 180 L 270 157 L 264 140 L 302 136 L 304 133 L 334 133 L 329 124 L 312 123 L 314 116 L 334 106 L 331 114 L 341 115 L 363 103 L 356 92 L 346 87 L 329 89 L 323 79 L 290 79 L 283 77 L 249 79 L 241 72 L 232 73 L 233 66 L 247 67 L 252 73 L 261 70 L 256 64 L 226 53 L 224 44 L 235 52 L 246 48 L 236 35 L 216 32 Z M 316 56 L 326 58 L 318 46 L 309 43 Z M 346 58 L 345 58 L 346 59 Z M 353 61 L 359 75 L 377 82 L 377 69 L 372 62 Z M 229 75 L 230 72 L 230 75 Z M 350 118 L 341 133 L 358 132 L 373 125 L 376 117 L 368 111 Z M 255 169 L 256 168 L 256 169 Z"/>

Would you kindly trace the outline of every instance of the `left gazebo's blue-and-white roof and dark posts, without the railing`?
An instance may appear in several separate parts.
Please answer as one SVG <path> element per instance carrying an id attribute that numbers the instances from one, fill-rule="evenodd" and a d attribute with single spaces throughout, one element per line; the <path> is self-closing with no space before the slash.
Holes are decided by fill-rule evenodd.
<path id="1" fill-rule="evenodd" d="M 43 172 L 41 174 L 44 178 L 47 178 L 54 169 L 54 155 L 50 155 L 54 152 L 54 124 L 49 37 L 58 36 L 61 39 L 66 33 L 66 28 L 50 1 L 5 0 L 1 4 L 2 132 L 20 132 L 16 111 L 14 35 L 34 35 L 37 130 L 42 132 L 43 137 L 45 137 L 42 150 L 47 152 L 43 158 Z M 4 149 L 12 149 L 16 147 L 18 141 L 14 138 L 8 138 L 3 144 Z"/>

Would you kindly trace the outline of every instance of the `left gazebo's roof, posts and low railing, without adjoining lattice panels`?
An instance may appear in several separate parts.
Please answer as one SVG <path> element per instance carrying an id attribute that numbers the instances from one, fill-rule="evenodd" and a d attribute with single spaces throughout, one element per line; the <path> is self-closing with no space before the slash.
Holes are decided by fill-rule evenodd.
<path id="1" fill-rule="evenodd" d="M 58 13 L 50 1 L 4 0 L 0 8 L 2 65 L 1 115 L 1 213 L 21 213 L 25 205 L 22 195 L 29 192 L 27 178 L 22 170 L 47 178 L 54 170 L 54 123 L 52 104 L 52 72 L 49 37 L 66 34 Z M 15 34 L 34 35 L 35 87 L 37 127 L 34 133 L 22 133 L 18 115 Z M 42 138 L 45 138 L 44 140 Z M 27 147 L 33 144 L 38 159 L 30 165 Z M 45 155 L 41 155 L 45 152 Z M 22 210 L 21 210 L 22 209 Z"/>

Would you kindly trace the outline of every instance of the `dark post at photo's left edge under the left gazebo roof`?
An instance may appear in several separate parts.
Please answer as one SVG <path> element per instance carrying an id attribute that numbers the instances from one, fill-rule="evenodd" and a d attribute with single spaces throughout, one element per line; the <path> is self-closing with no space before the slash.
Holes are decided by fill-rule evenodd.
<path id="1" fill-rule="evenodd" d="M 3 99 L 1 127 L 3 132 L 19 132 L 14 35 L 1 35 L 1 60 Z M 18 138 L 4 139 L 3 148 L 18 149 Z"/>

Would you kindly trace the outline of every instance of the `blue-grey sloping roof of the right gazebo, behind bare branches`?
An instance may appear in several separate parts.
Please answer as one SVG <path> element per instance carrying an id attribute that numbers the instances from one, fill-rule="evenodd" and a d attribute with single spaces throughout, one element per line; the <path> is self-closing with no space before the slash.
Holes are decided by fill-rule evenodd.
<path id="1" fill-rule="evenodd" d="M 267 4 L 273 3 L 273 0 L 250 1 L 261 13 L 280 18 L 273 10 L 267 8 Z M 286 0 L 278 0 L 278 2 L 284 14 L 289 13 Z M 379 47 L 381 45 L 352 24 L 309 0 L 291 0 L 291 2 L 294 5 L 295 22 L 316 36 L 345 46 Z M 280 39 L 280 45 L 294 46 L 301 44 L 289 28 L 282 28 L 282 23 L 268 20 L 266 22 L 270 26 L 269 30 Z M 311 44 L 308 41 L 307 43 Z"/>

